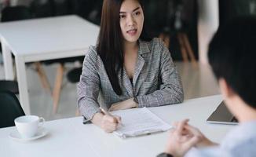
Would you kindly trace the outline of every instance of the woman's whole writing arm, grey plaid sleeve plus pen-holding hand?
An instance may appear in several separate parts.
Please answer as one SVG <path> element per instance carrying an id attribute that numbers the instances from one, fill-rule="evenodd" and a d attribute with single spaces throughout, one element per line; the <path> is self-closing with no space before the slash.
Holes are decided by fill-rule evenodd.
<path id="1" fill-rule="evenodd" d="M 104 115 L 99 108 L 97 97 L 100 90 L 100 77 L 97 64 L 97 53 L 90 47 L 82 65 L 82 75 L 77 86 L 79 111 L 86 119 L 100 126 L 106 132 L 112 132 L 117 129 L 121 120 L 119 117 Z"/>

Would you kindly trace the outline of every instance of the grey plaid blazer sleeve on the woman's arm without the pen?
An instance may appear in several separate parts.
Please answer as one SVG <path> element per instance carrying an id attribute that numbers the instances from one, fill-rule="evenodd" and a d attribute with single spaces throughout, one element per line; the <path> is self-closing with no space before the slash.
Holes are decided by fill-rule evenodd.
<path id="1" fill-rule="evenodd" d="M 160 44 L 161 64 L 160 64 L 160 78 L 161 84 L 159 90 L 155 90 L 148 95 L 138 96 L 139 107 L 155 107 L 166 104 L 177 104 L 184 100 L 183 88 L 181 85 L 181 78 L 177 73 L 176 66 L 170 52 L 164 46 L 163 42 Z"/>

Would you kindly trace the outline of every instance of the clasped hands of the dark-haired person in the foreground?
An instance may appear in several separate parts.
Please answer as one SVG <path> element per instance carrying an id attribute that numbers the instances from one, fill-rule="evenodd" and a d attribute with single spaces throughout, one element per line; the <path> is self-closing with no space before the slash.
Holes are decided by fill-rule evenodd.
<path id="1" fill-rule="evenodd" d="M 170 131 L 165 152 L 173 156 L 184 156 L 190 148 L 195 146 L 201 137 L 187 130 L 188 119 L 174 124 L 176 128 Z"/>

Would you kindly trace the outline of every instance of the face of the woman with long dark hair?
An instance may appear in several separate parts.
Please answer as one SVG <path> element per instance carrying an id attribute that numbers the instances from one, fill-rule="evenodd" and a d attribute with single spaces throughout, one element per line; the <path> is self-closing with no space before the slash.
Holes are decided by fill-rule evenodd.
<path id="1" fill-rule="evenodd" d="M 120 8 L 120 27 L 125 42 L 137 42 L 141 35 L 144 14 L 137 0 L 125 0 Z"/>

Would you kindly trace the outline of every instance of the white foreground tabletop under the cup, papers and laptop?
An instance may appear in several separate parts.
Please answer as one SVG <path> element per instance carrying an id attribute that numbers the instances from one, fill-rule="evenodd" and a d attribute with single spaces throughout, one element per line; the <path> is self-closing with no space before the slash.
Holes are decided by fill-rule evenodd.
<path id="1" fill-rule="evenodd" d="M 149 108 L 166 122 L 189 118 L 211 140 L 219 142 L 233 126 L 208 124 L 207 117 L 221 102 L 220 96 L 185 100 L 182 104 Z M 153 157 L 163 152 L 168 132 L 121 139 L 104 133 L 92 124 L 82 125 L 82 118 L 60 119 L 45 123 L 49 134 L 42 139 L 20 143 L 9 138 L 15 127 L 0 129 L 0 156 L 95 156 Z"/>

